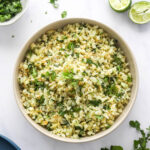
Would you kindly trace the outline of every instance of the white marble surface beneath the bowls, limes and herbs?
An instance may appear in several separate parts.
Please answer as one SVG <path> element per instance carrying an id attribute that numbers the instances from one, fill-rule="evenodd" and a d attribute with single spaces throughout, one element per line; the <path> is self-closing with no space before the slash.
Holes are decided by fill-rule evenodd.
<path id="1" fill-rule="evenodd" d="M 59 0 L 57 10 L 48 2 L 30 0 L 29 9 L 18 22 L 0 27 L 0 134 L 14 140 L 22 150 L 99 150 L 111 144 L 121 144 L 125 150 L 131 150 L 137 133 L 129 128 L 129 120 L 137 119 L 143 127 L 150 125 L 150 23 L 132 23 L 127 12 L 118 14 L 111 10 L 108 0 Z M 140 87 L 131 113 L 113 133 L 94 142 L 69 144 L 39 133 L 25 120 L 13 95 L 13 68 L 22 46 L 38 29 L 61 19 L 63 10 L 68 11 L 68 18 L 91 18 L 115 29 L 131 47 L 139 69 Z M 12 35 L 15 38 L 11 38 Z"/>

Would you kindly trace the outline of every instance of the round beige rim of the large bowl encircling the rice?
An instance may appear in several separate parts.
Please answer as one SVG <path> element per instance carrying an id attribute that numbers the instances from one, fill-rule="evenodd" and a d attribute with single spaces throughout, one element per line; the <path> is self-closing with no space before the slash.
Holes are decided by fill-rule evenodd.
<path id="1" fill-rule="evenodd" d="M 74 22 L 72 22 L 74 21 Z M 55 25 L 55 24 L 61 24 L 63 22 L 65 25 L 67 24 L 72 24 L 72 23 L 81 23 L 81 22 L 85 22 L 85 23 L 91 23 L 91 24 L 96 24 L 98 25 L 100 28 L 105 28 L 104 30 L 108 33 L 112 33 L 115 36 L 117 36 L 117 38 L 119 38 L 119 40 L 121 41 L 121 43 L 123 43 L 125 45 L 125 47 L 127 48 L 125 51 L 127 51 L 129 53 L 130 59 L 131 59 L 131 64 L 133 65 L 132 67 L 134 68 L 134 89 L 132 87 L 132 91 L 131 91 L 131 98 L 129 103 L 127 104 L 127 106 L 124 108 L 123 112 L 120 114 L 120 116 L 115 120 L 114 124 L 109 128 L 106 129 L 105 131 L 101 131 L 93 136 L 89 136 L 89 137 L 83 137 L 80 139 L 72 139 L 72 138 L 64 138 L 64 137 L 60 137 L 57 136 L 55 134 L 52 134 L 51 132 L 49 132 L 48 130 L 44 129 L 43 127 L 41 127 L 40 125 L 38 125 L 37 123 L 35 123 L 26 113 L 25 108 L 22 105 L 22 102 L 20 100 L 19 97 L 19 90 L 17 89 L 18 87 L 18 81 L 17 81 L 17 75 L 18 75 L 18 65 L 20 64 L 20 62 L 22 61 L 21 56 L 23 55 L 23 57 L 25 56 L 25 53 L 28 50 L 28 46 L 35 41 L 35 39 L 37 39 L 38 37 L 40 37 L 42 34 L 44 34 L 48 29 L 51 29 L 51 26 Z M 89 24 L 90 24 L 89 23 Z M 64 25 L 61 25 L 61 27 L 63 27 Z M 57 27 L 56 27 L 57 29 Z M 108 31 L 109 30 L 109 31 Z M 37 36 L 38 35 L 38 36 Z M 33 40 L 34 39 L 34 40 Z M 124 50 L 123 50 L 124 51 Z M 124 51 L 124 52 L 125 52 Z M 23 54 L 24 53 L 24 54 Z M 130 68 L 131 70 L 131 68 Z M 14 73 L 13 73 L 13 91 L 14 91 L 14 95 L 15 95 L 15 99 L 16 99 L 16 103 L 20 109 L 20 111 L 22 112 L 23 116 L 28 120 L 28 122 L 38 131 L 40 131 L 41 133 L 43 133 L 44 135 L 51 137 L 53 139 L 59 140 L 59 141 L 63 141 L 63 142 L 68 142 L 68 143 L 83 143 L 83 142 L 90 142 L 90 141 L 94 141 L 97 139 L 100 139 L 110 133 L 112 133 L 112 131 L 114 131 L 115 129 L 117 129 L 117 127 L 119 125 L 121 125 L 123 123 L 123 121 L 127 118 L 129 112 L 131 111 L 135 100 L 136 100 L 136 96 L 137 96 L 137 92 L 138 92 L 138 87 L 139 87 L 139 73 L 138 73 L 138 69 L 137 69 L 137 64 L 135 61 L 135 58 L 132 54 L 131 49 L 129 48 L 128 44 L 124 41 L 124 39 L 116 32 L 114 31 L 112 28 L 110 28 L 108 25 L 105 25 L 103 23 L 101 23 L 100 21 L 95 21 L 93 19 L 88 19 L 88 18 L 68 18 L 68 19 L 63 19 L 63 20 L 58 20 L 55 22 L 52 22 L 42 28 L 40 28 L 37 32 L 35 32 L 24 44 L 23 48 L 21 49 L 16 63 L 15 63 L 15 67 L 14 67 Z"/>

